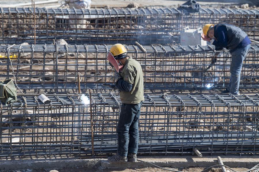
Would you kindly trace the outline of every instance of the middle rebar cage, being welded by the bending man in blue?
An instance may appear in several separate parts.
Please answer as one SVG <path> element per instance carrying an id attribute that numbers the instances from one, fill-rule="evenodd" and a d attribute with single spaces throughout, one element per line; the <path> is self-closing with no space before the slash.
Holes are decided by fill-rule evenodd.
<path id="1" fill-rule="evenodd" d="M 114 69 L 107 63 L 111 45 L 14 45 L 0 46 L 2 56 L 12 57 L 16 82 L 25 92 L 78 92 L 103 90 L 114 83 Z M 212 46 L 126 46 L 128 55 L 143 69 L 145 90 L 208 90 L 226 87 L 230 79 L 229 51 Z M 251 45 L 241 69 L 240 88 L 259 88 L 259 45 Z M 217 55 L 217 61 L 212 63 Z M 0 79 L 12 78 L 8 58 L 1 58 Z"/>

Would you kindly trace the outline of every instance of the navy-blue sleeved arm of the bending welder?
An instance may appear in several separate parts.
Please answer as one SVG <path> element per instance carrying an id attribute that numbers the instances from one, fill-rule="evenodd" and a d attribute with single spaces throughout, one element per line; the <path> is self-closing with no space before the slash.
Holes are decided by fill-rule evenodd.
<path id="1" fill-rule="evenodd" d="M 227 30 L 225 26 L 220 26 L 217 28 L 215 35 L 217 40 L 212 39 L 211 43 L 216 47 L 226 48 L 228 45 L 228 38 L 227 38 Z"/>

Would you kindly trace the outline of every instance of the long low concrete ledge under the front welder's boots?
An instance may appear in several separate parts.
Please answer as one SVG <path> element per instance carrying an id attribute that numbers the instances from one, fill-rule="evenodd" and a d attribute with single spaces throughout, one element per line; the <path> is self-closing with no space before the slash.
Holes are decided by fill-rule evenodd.
<path id="1" fill-rule="evenodd" d="M 237 155 L 215 155 L 215 156 L 203 156 L 202 158 L 196 156 L 138 156 L 138 159 L 147 161 L 158 165 L 160 167 L 171 168 L 187 168 L 187 167 L 209 167 L 212 165 L 218 165 L 217 156 L 222 158 L 224 165 L 229 167 L 244 167 L 251 168 L 259 163 L 259 156 L 237 156 Z M 86 168 L 141 168 L 141 167 L 153 167 L 153 165 L 136 162 L 136 163 L 114 163 L 111 164 L 107 159 L 95 158 L 95 159 L 78 159 L 76 157 L 55 157 L 48 159 L 12 159 L 1 160 L 1 170 L 22 170 L 22 169 L 48 169 L 58 167 L 72 168 L 72 167 L 86 167 Z"/>

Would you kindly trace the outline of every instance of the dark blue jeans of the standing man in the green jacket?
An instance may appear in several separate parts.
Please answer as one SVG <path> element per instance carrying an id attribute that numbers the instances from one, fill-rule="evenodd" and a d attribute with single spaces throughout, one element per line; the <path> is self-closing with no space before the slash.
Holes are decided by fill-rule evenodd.
<path id="1" fill-rule="evenodd" d="M 138 104 L 122 103 L 119 122 L 117 125 L 118 154 L 127 156 L 137 154 L 139 143 L 139 116 L 143 101 Z"/>

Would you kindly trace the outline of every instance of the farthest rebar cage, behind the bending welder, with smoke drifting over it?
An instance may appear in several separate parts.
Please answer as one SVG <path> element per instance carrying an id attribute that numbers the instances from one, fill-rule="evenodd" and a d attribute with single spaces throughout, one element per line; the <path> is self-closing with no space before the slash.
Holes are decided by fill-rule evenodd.
<path id="1" fill-rule="evenodd" d="M 61 9 L 0 8 L 0 43 L 167 44 L 179 42 L 185 27 L 229 23 L 259 39 L 258 9 L 209 9 L 188 13 L 176 8 Z M 35 36 L 34 36 L 35 34 Z"/>

